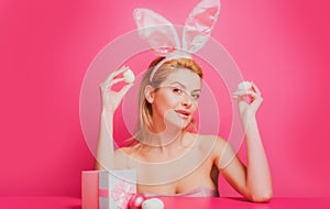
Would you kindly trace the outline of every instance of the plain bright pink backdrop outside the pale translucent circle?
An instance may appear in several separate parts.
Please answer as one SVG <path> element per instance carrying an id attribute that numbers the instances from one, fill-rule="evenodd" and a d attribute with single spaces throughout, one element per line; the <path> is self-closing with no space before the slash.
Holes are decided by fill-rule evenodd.
<path id="1" fill-rule="evenodd" d="M 89 64 L 135 29 L 134 8 L 183 24 L 197 2 L 0 1 L 0 196 L 80 196 L 80 173 L 94 165 L 79 123 Z M 327 0 L 222 0 L 212 33 L 262 89 L 276 197 L 329 196 L 329 10 Z M 220 193 L 234 195 L 224 183 Z"/>

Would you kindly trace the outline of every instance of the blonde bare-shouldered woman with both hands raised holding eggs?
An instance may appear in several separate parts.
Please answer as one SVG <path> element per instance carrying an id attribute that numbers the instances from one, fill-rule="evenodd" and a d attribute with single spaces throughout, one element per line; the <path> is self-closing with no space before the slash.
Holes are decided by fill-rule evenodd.
<path id="1" fill-rule="evenodd" d="M 128 67 L 112 73 L 101 84 L 102 114 L 96 169 L 133 168 L 138 173 L 138 193 L 146 195 L 219 196 L 219 173 L 242 196 L 265 202 L 272 198 L 272 179 L 258 133 L 255 113 L 263 99 L 257 87 L 238 89 L 241 122 L 245 130 L 248 165 L 243 165 L 230 144 L 216 135 L 193 133 L 198 108 L 202 72 L 194 59 L 177 58 L 147 69 L 139 101 L 140 129 L 128 147 L 113 152 L 113 113 L 132 86 L 111 90 L 121 82 Z M 251 103 L 244 97 L 251 98 Z M 249 114 L 248 114 L 249 113 Z M 249 124 L 249 125 L 248 125 Z"/>

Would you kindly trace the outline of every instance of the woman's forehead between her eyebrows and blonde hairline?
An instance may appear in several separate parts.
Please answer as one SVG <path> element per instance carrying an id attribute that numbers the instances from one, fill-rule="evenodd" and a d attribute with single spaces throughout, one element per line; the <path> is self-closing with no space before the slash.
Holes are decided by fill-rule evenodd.
<path id="1" fill-rule="evenodd" d="M 201 78 L 190 69 L 182 68 L 173 70 L 173 73 L 170 73 L 163 81 L 164 85 L 169 85 L 173 82 L 179 82 L 191 89 L 200 89 Z"/>

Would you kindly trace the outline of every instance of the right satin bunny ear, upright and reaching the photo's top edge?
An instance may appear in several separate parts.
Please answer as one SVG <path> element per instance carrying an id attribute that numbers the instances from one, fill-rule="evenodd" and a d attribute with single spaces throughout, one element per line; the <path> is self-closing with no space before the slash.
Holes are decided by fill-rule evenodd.
<path id="1" fill-rule="evenodd" d="M 205 45 L 209 40 L 219 13 L 219 0 L 202 0 L 194 8 L 184 28 L 184 51 L 195 53 Z"/>

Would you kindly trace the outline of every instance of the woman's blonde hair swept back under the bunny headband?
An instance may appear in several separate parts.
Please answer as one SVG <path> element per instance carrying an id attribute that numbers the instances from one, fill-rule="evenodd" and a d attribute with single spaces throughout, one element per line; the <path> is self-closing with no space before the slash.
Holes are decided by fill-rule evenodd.
<path id="1" fill-rule="evenodd" d="M 166 78 L 172 74 L 174 70 L 179 70 L 182 68 L 189 69 L 196 73 L 200 78 L 202 78 L 202 70 L 201 67 L 194 61 L 189 58 L 179 58 L 179 59 L 172 59 L 165 62 L 154 74 L 152 80 L 150 80 L 150 76 L 153 72 L 153 68 L 164 59 L 165 57 L 157 57 L 155 58 L 148 66 L 139 89 L 139 121 L 136 127 L 135 139 L 138 141 L 143 139 L 143 130 L 145 128 L 147 130 L 153 130 L 154 124 L 152 120 L 153 109 L 151 103 L 146 100 L 144 95 L 144 89 L 147 85 L 154 87 L 157 90 L 157 87 L 166 80 Z M 191 121 L 193 122 L 193 121 Z M 141 135 L 142 134 L 142 135 Z M 142 139 L 141 139 L 142 138 Z"/>

